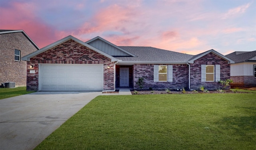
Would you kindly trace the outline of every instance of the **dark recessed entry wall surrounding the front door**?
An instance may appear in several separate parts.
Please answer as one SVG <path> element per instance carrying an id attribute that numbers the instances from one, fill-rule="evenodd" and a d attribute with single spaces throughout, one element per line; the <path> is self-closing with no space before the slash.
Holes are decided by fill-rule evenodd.
<path id="1" fill-rule="evenodd" d="M 129 87 L 133 88 L 133 66 L 119 66 L 116 65 L 116 87 L 120 87 L 120 68 L 129 68 Z"/>

